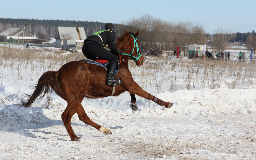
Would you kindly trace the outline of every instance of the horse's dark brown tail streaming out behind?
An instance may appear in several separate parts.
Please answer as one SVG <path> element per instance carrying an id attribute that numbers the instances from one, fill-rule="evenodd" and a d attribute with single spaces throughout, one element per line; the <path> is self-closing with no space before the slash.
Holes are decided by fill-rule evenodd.
<path id="1" fill-rule="evenodd" d="M 59 75 L 59 72 L 55 72 L 55 71 L 44 72 L 44 74 L 39 78 L 34 92 L 32 94 L 26 94 L 28 97 L 28 100 L 24 101 L 24 98 L 22 98 L 21 104 L 24 107 L 30 107 L 34 103 L 36 98 L 40 96 L 40 94 L 42 94 L 42 92 L 44 93 L 41 96 L 41 99 L 45 96 L 45 94 L 49 96 L 49 94 L 51 94 L 53 90 L 56 90 L 62 93 L 60 89 L 60 83 L 57 77 L 58 75 Z"/>

